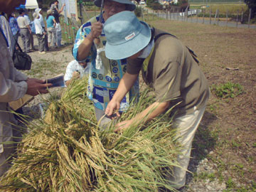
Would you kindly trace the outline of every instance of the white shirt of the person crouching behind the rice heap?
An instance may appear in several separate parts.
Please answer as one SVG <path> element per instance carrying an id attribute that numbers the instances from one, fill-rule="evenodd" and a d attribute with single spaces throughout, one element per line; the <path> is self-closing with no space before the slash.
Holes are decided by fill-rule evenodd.
<path id="1" fill-rule="evenodd" d="M 87 63 L 86 68 L 83 68 L 78 63 L 77 60 L 72 60 L 70 63 L 68 63 L 68 66 L 64 75 L 64 81 L 70 80 L 75 71 L 78 71 L 80 73 L 80 78 L 89 74 L 89 66 L 90 66 L 90 63 Z"/>

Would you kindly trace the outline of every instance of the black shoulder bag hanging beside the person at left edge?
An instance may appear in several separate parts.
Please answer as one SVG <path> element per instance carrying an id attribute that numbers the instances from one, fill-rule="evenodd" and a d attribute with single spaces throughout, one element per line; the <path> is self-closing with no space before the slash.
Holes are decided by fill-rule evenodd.
<path id="1" fill-rule="evenodd" d="M 32 64 L 31 56 L 23 52 L 17 42 L 16 42 L 16 45 L 18 46 L 18 50 L 14 48 L 14 54 L 13 54 L 14 67 L 17 70 L 30 70 L 31 64 Z"/>

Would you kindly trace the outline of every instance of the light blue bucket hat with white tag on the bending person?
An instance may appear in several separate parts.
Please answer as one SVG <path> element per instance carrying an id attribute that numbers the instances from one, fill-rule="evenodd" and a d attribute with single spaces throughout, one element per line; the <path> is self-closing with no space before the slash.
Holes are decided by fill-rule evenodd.
<path id="1" fill-rule="evenodd" d="M 110 16 L 103 30 L 107 38 L 105 54 L 113 60 L 129 58 L 145 48 L 151 39 L 149 25 L 139 21 L 131 11 Z"/>

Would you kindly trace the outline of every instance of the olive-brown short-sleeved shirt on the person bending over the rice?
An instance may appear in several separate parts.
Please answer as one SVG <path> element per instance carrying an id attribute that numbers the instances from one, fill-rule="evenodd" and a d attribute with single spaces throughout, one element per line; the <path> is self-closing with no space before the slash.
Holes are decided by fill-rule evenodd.
<path id="1" fill-rule="evenodd" d="M 155 30 L 154 36 L 164 31 Z M 127 73 L 142 76 L 154 88 L 157 102 L 171 101 L 177 114 L 189 114 L 206 105 L 210 95 L 208 82 L 186 46 L 170 35 L 159 37 L 144 70 L 143 59 L 128 60 Z M 178 110 L 178 111 L 177 111 Z"/>

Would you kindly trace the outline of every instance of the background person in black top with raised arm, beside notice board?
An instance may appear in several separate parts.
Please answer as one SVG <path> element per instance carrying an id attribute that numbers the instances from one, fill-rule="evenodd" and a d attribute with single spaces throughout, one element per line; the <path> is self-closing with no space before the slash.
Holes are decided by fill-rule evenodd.
<path id="1" fill-rule="evenodd" d="M 58 1 L 53 1 L 53 4 L 50 4 L 50 10 L 53 13 L 53 16 L 55 18 L 56 21 L 56 36 L 57 36 L 57 46 L 63 46 L 61 44 L 61 26 L 60 26 L 60 13 L 63 11 L 65 4 L 63 4 L 63 6 L 61 6 L 60 9 L 58 9 Z"/>

